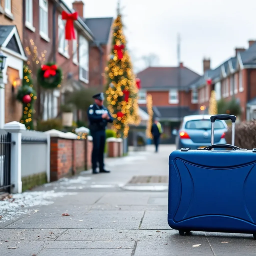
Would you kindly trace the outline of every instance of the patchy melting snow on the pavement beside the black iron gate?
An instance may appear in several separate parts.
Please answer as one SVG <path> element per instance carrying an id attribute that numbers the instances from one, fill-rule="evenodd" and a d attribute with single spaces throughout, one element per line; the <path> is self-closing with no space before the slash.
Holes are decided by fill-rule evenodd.
<path id="1" fill-rule="evenodd" d="M 77 193 L 64 193 L 50 191 L 29 191 L 22 194 L 14 194 L 0 201 L 0 222 L 15 219 L 15 217 L 33 211 L 35 206 L 50 205 L 52 199 Z"/>

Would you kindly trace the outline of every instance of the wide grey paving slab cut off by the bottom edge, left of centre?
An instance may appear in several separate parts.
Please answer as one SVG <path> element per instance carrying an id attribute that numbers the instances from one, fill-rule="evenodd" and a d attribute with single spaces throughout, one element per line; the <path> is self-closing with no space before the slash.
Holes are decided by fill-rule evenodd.
<path id="1" fill-rule="evenodd" d="M 44 249 L 38 256 L 131 256 L 133 249 Z"/>

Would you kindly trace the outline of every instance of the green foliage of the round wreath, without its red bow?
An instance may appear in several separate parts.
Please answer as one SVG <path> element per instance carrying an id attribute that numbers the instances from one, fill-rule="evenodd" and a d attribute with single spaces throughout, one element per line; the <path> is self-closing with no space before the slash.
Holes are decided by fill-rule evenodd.
<path id="1" fill-rule="evenodd" d="M 56 65 L 53 62 L 48 62 L 43 66 L 54 66 Z M 45 74 L 45 70 L 41 68 L 38 69 L 37 71 L 37 82 L 40 84 L 41 87 L 45 88 L 45 89 L 54 89 L 56 87 L 60 87 L 60 83 L 62 80 L 62 70 L 60 68 L 57 67 L 57 69 L 55 70 L 56 74 L 55 76 L 50 75 L 48 78 L 44 77 Z"/>

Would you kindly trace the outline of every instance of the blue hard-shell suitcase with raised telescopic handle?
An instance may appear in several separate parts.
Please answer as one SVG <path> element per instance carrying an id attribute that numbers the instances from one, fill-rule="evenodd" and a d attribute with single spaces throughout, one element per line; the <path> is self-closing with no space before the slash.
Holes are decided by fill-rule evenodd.
<path id="1" fill-rule="evenodd" d="M 214 144 L 214 121 L 232 121 L 232 145 Z M 253 234 L 256 239 L 256 149 L 234 146 L 232 115 L 211 116 L 211 146 L 169 156 L 168 224 L 190 231 Z M 227 151 L 213 148 L 229 148 Z"/>

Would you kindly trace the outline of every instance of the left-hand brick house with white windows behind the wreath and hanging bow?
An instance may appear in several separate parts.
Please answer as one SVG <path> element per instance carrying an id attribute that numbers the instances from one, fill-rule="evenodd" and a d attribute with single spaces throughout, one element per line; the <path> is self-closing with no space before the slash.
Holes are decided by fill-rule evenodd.
<path id="1" fill-rule="evenodd" d="M 89 43 L 94 40 L 90 29 L 79 17 L 74 21 L 76 40 L 65 40 L 65 20 L 61 18 L 61 12 L 72 13 L 64 1 L 58 0 L 24 0 L 24 47 L 33 51 L 37 47 L 38 62 L 29 57 L 29 67 L 33 73 L 40 64 L 48 61 L 56 62 L 63 72 L 62 89 L 53 93 L 40 93 L 37 88 L 38 109 L 44 120 L 56 118 L 59 106 L 63 103 L 66 91 L 87 87 L 89 83 Z M 74 2 L 73 8 L 81 1 Z M 26 48 L 28 49 L 28 48 Z M 41 99 L 40 99 L 41 98 Z M 40 101 L 44 102 L 44 108 L 40 109 Z M 77 112 L 74 111 L 74 118 Z M 76 120 L 75 120 L 76 121 Z"/>

